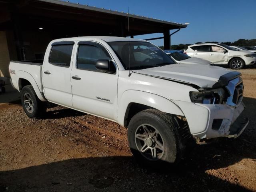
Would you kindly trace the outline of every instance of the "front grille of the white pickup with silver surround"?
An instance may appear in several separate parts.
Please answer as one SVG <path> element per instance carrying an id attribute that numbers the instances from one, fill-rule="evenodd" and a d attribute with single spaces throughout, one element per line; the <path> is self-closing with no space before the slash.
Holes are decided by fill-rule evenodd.
<path id="1" fill-rule="evenodd" d="M 226 88 L 230 93 L 226 103 L 230 106 L 238 106 L 243 100 L 244 85 L 242 78 L 238 77 L 231 80 Z"/>

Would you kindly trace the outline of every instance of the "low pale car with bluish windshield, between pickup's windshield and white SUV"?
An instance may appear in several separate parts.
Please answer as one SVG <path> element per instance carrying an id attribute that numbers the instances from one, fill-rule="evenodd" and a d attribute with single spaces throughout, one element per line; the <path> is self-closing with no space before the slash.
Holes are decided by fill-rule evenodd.
<path id="1" fill-rule="evenodd" d="M 212 64 L 210 61 L 205 59 L 190 57 L 187 54 L 182 53 L 180 50 L 164 50 L 164 52 L 168 54 L 178 64 Z"/>

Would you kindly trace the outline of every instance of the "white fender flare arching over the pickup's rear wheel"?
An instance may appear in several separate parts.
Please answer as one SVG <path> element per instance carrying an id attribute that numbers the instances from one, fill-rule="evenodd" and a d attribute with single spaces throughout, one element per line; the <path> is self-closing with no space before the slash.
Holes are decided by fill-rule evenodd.
<path id="1" fill-rule="evenodd" d="M 42 95 L 42 93 L 40 92 L 40 89 L 39 89 L 38 85 L 36 84 L 36 81 L 34 80 L 32 75 L 30 75 L 28 72 L 25 72 L 25 71 L 18 71 L 18 72 L 16 72 L 16 74 L 18 76 L 18 81 L 17 81 L 17 87 L 18 88 L 20 88 L 20 79 L 26 79 L 33 86 L 33 88 L 36 92 L 36 96 L 38 96 L 38 98 L 41 101 L 47 101 L 44 98 L 44 96 Z"/>

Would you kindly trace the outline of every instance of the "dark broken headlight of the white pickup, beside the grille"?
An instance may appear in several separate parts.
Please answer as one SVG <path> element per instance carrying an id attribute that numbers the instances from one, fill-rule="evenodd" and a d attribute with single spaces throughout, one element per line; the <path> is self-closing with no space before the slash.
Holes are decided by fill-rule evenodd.
<path id="1" fill-rule="evenodd" d="M 228 98 L 223 88 L 190 92 L 191 101 L 202 104 L 225 104 Z"/>

